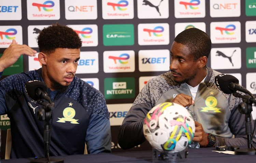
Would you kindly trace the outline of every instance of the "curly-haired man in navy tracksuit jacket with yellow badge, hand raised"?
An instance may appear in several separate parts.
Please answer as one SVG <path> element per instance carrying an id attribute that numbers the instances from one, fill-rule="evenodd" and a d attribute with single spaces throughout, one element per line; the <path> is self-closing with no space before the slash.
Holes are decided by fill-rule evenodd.
<path id="1" fill-rule="evenodd" d="M 38 37 L 42 68 L 15 74 L 0 81 L 0 114 L 11 122 L 11 158 L 44 157 L 44 121 L 37 112 L 42 105 L 31 99 L 25 83 L 43 81 L 55 104 L 50 156 L 111 152 L 109 112 L 103 95 L 77 78 L 81 39 L 66 26 L 52 25 Z M 20 55 L 35 56 L 36 51 L 15 40 L 0 58 L 0 71 L 11 66 Z M 0 72 L 2 75 L 2 72 Z"/>

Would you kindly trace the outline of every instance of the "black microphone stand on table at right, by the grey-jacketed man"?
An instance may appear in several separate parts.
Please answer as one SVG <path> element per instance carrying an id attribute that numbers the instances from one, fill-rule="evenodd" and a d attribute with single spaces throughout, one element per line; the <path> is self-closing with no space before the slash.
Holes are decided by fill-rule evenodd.
<path id="1" fill-rule="evenodd" d="M 241 114 L 245 114 L 245 132 L 247 135 L 247 145 L 248 148 L 243 148 L 243 149 L 237 149 L 234 151 L 235 154 L 247 154 L 247 155 L 255 155 L 256 150 L 252 148 L 252 122 L 251 122 L 251 112 L 253 111 L 252 109 L 252 103 L 256 103 L 256 100 L 252 98 L 251 96 L 247 95 L 241 95 L 239 93 L 232 93 L 234 97 L 239 97 L 243 99 L 243 102 L 241 102 L 238 105 L 238 111 Z"/>

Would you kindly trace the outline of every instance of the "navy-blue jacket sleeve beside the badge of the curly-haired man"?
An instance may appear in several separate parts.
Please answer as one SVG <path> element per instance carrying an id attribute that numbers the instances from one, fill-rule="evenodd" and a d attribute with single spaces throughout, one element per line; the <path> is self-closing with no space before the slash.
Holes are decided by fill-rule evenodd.
<path id="1" fill-rule="evenodd" d="M 85 137 L 87 152 L 90 154 L 111 152 L 111 130 L 106 101 L 102 94 L 94 100 L 94 109 Z"/>

